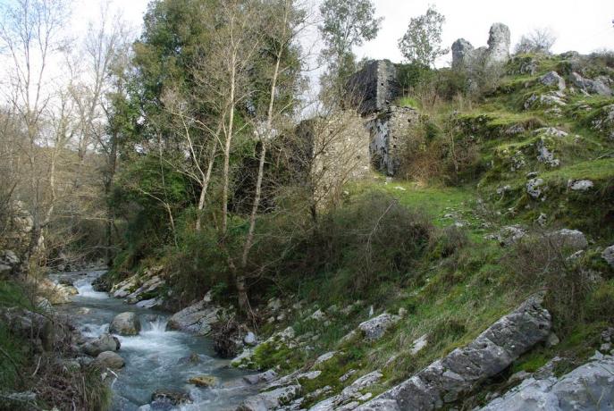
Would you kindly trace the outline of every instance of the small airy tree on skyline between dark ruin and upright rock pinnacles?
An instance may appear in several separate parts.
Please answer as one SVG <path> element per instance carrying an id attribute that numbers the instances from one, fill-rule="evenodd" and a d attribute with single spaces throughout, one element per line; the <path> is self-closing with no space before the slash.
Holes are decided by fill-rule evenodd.
<path id="1" fill-rule="evenodd" d="M 445 16 L 438 13 L 433 5 L 425 14 L 411 18 L 408 31 L 399 39 L 403 57 L 409 63 L 434 66 L 439 56 L 448 53 L 447 48 L 442 48 L 442 26 L 445 21 Z"/>

